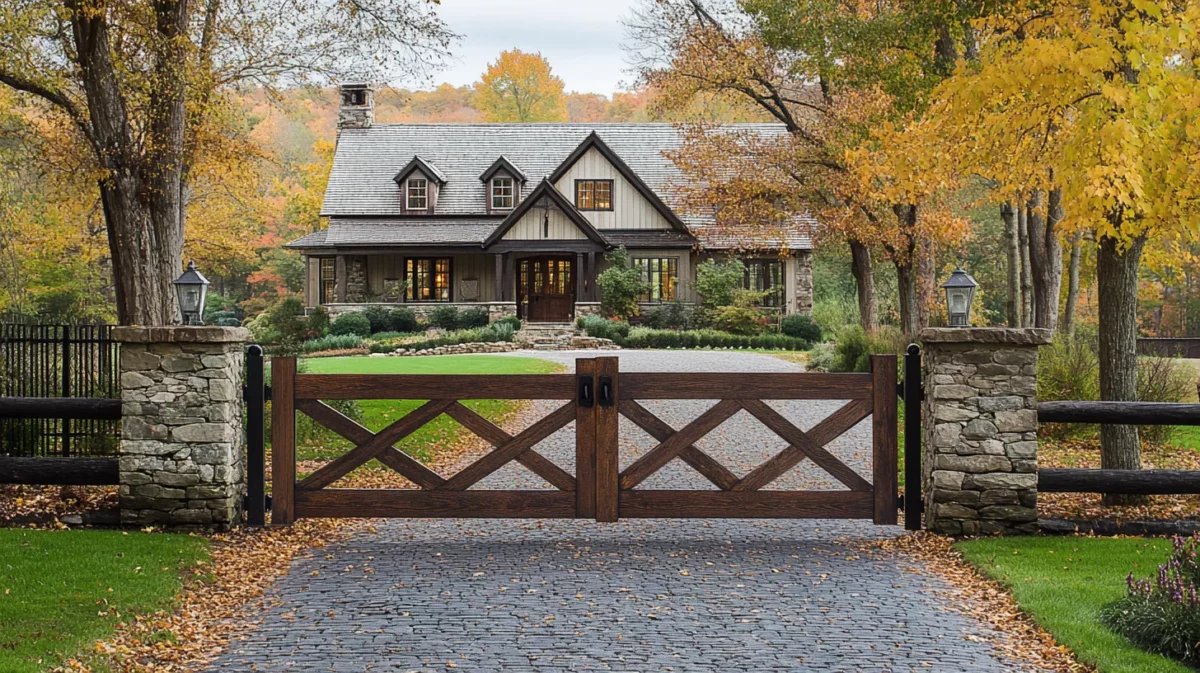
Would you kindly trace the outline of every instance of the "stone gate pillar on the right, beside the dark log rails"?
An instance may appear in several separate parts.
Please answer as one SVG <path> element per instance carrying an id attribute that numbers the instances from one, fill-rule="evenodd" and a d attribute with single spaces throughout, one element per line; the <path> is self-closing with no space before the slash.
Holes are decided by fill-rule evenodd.
<path id="1" fill-rule="evenodd" d="M 1037 531 L 1038 347 L 1050 338 L 1034 328 L 920 331 L 925 528 Z"/>

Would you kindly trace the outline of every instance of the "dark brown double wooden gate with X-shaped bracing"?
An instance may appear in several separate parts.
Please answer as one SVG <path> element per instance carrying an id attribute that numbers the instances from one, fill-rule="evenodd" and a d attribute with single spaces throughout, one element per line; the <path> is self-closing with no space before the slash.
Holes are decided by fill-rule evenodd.
<path id="1" fill-rule="evenodd" d="M 298 517 L 490 517 L 619 518 L 746 517 L 866 518 L 896 523 L 896 359 L 876 355 L 870 374 L 816 373 L 620 373 L 617 357 L 576 360 L 574 374 L 420 375 L 298 374 L 295 360 L 271 366 L 274 523 Z M 425 401 L 404 417 L 371 432 L 323 401 Z M 462 404 L 463 399 L 553 399 L 553 411 L 509 434 Z M 698 417 L 676 429 L 640 401 L 715 399 Z M 802 431 L 766 399 L 845 399 L 824 420 Z M 748 411 L 786 447 L 738 476 L 696 443 L 733 414 Z M 296 481 L 295 415 L 302 413 L 350 440 L 355 447 Z M 395 447 L 425 423 L 448 415 L 492 445 L 457 474 L 442 476 Z M 619 468 L 619 416 L 659 444 Z M 871 480 L 856 473 L 824 445 L 872 417 Z M 575 423 L 575 474 L 534 447 Z M 680 459 L 715 489 L 638 488 L 650 475 Z M 377 459 L 418 489 L 330 488 L 355 468 Z M 767 491 L 766 486 L 802 461 L 812 461 L 846 489 Z M 472 488 L 516 461 L 554 489 Z"/>

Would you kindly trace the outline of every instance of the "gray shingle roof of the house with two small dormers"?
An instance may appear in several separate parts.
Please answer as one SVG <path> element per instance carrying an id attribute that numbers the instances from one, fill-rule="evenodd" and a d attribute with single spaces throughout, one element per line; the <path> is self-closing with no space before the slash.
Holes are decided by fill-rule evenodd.
<path id="1" fill-rule="evenodd" d="M 778 124 L 737 126 L 763 134 L 786 133 L 782 125 Z M 518 166 L 529 181 L 535 184 L 553 173 L 593 131 L 659 198 L 676 209 L 689 229 L 698 235 L 706 227 L 714 224 L 715 217 L 712 214 L 685 214 L 677 209 L 672 185 L 678 184 L 682 174 L 664 152 L 679 148 L 682 136 L 671 124 L 380 124 L 370 128 L 342 130 L 322 215 L 334 218 L 401 217 L 402 194 L 392 178 L 418 156 L 436 166 L 445 179 L 445 185 L 438 193 L 439 216 L 486 215 L 486 186 L 480 181 L 480 175 L 500 156 Z M 403 221 L 396 220 L 394 224 L 401 222 Z M 479 226 L 478 222 L 474 224 Z M 787 232 L 780 232 L 781 235 L 772 236 L 775 246 L 797 250 L 811 247 L 806 227 L 798 224 Z M 355 226 L 370 227 L 362 223 Z M 415 229 L 409 232 L 418 233 Z M 430 229 L 424 233 L 452 235 L 456 240 L 470 238 L 466 232 L 452 234 Z M 350 234 L 346 235 L 350 238 Z M 384 234 L 372 229 L 361 235 L 374 240 Z M 730 247 L 727 242 L 742 239 L 742 235 L 713 235 L 706 245 Z M 701 236 L 701 240 L 704 239 Z M 334 239 L 329 244 L 337 245 Z M 762 246 L 763 241 L 758 240 L 756 245 Z"/>

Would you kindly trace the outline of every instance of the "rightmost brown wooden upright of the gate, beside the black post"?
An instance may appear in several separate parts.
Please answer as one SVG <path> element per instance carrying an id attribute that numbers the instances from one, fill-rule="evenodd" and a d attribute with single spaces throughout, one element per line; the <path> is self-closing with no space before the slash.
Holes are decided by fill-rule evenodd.
<path id="1" fill-rule="evenodd" d="M 871 356 L 871 396 L 875 523 L 895 525 L 899 499 L 895 355 Z"/>

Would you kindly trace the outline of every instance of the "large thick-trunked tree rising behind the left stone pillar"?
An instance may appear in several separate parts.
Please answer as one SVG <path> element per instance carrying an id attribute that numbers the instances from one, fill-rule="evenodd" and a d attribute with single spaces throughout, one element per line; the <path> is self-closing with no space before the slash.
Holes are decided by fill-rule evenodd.
<path id="1" fill-rule="evenodd" d="M 96 172 L 125 324 L 178 319 L 192 167 L 223 88 L 390 77 L 446 54 L 425 0 L 29 0 L 0 7 L 0 84 L 72 126 Z"/>

